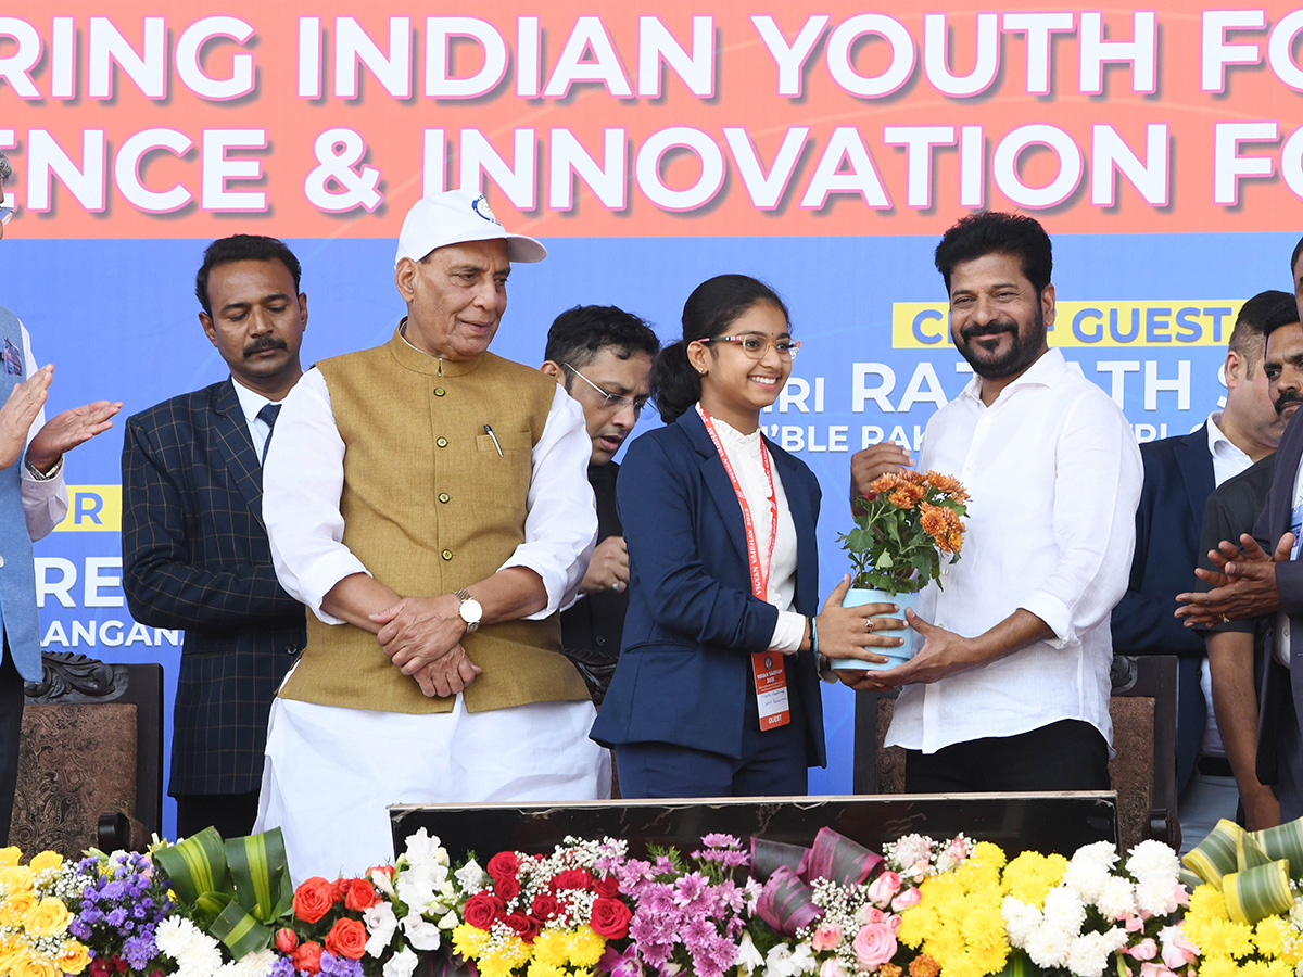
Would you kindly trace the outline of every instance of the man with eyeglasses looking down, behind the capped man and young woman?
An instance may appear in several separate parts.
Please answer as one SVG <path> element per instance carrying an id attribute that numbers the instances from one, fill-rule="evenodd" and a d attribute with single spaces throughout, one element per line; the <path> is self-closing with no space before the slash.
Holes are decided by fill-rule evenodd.
<path id="1" fill-rule="evenodd" d="M 659 352 L 661 341 L 637 315 L 614 305 L 577 305 L 552 322 L 546 361 L 538 367 L 584 408 L 593 442 L 588 481 L 597 498 L 598 542 L 580 584 L 580 599 L 562 612 L 562 647 L 584 676 L 595 705 L 611 684 L 629 606 L 629 555 L 615 511 L 620 466 L 611 459 L 646 405 L 648 376 Z"/>

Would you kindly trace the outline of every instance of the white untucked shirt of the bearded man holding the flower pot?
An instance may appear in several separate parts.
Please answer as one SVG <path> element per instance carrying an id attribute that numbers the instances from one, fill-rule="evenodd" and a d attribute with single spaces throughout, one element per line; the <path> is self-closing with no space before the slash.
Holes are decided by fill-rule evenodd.
<path id="1" fill-rule="evenodd" d="M 887 745 L 934 753 L 1062 720 L 1109 719 L 1109 614 L 1127 589 L 1140 451 L 1108 395 L 1052 349 L 990 405 L 975 376 L 928 422 L 921 470 L 971 494 L 963 555 L 919 615 L 976 637 L 1018 608 L 1053 634 L 929 685 L 907 685 Z M 923 638 L 915 637 L 916 647 Z"/>

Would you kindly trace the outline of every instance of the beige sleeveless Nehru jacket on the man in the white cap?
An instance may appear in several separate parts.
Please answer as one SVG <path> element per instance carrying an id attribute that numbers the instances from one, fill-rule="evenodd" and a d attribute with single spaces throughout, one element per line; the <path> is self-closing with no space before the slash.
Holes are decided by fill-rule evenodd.
<path id="1" fill-rule="evenodd" d="M 493 576 L 525 541 L 530 452 L 556 382 L 493 353 L 439 361 L 397 332 L 317 369 L 345 444 L 344 545 L 401 597 L 447 594 Z M 461 644 L 483 668 L 464 693 L 472 713 L 588 698 L 560 654 L 555 614 L 485 625 Z M 374 634 L 313 614 L 308 647 L 280 696 L 388 713 L 448 713 L 453 702 L 423 696 Z"/>

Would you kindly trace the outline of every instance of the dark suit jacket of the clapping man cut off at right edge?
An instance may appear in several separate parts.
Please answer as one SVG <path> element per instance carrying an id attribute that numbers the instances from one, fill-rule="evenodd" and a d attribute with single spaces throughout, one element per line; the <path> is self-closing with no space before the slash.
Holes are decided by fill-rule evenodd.
<path id="1" fill-rule="evenodd" d="M 1294 479 L 1303 461 L 1303 423 L 1296 418 L 1285 425 L 1276 451 L 1276 474 L 1267 507 L 1253 526 L 1253 537 L 1268 552 L 1290 531 L 1294 509 Z M 1277 784 L 1281 821 L 1303 815 L 1303 728 L 1299 726 L 1303 702 L 1303 560 L 1276 564 L 1276 586 L 1281 607 L 1290 616 L 1290 663 L 1285 668 L 1268 651 L 1263 679 L 1261 711 L 1257 718 L 1257 779 Z M 1274 619 L 1272 621 L 1274 624 Z M 1268 649 L 1270 645 L 1268 636 Z"/>

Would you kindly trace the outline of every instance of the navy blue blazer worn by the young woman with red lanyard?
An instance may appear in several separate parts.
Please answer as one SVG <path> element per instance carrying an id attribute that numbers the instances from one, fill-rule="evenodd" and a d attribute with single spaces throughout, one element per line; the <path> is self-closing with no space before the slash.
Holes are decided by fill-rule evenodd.
<path id="1" fill-rule="evenodd" d="M 804 462 L 765 442 L 796 526 L 796 611 L 818 612 L 814 525 L 820 487 Z M 752 594 L 741 507 L 694 410 L 629 446 L 616 486 L 629 548 L 629 610 L 620 662 L 593 739 L 670 743 L 741 757 L 751 653 L 764 651 L 778 608 Z M 787 658 L 810 766 L 826 766 L 814 655 Z"/>

